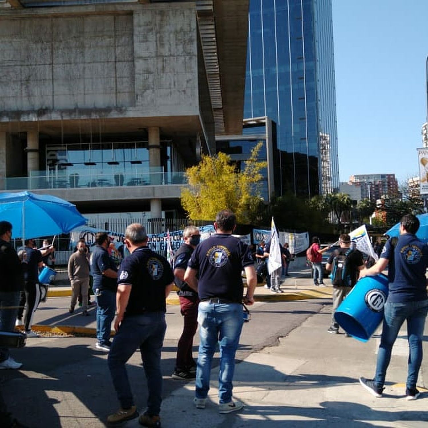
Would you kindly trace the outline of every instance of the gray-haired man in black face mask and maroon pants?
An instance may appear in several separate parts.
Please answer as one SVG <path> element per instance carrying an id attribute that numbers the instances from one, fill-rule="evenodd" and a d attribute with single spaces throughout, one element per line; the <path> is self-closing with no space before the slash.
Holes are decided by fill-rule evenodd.
<path id="1" fill-rule="evenodd" d="M 183 333 L 178 340 L 177 360 L 172 373 L 173 379 L 190 380 L 196 377 L 196 362 L 193 360 L 193 336 L 198 328 L 197 291 L 193 290 L 184 281 L 187 263 L 196 245 L 201 241 L 199 229 L 196 226 L 187 226 L 183 230 L 184 243 L 177 250 L 174 257 L 175 285 L 179 288 L 177 294 L 180 300 L 181 315 L 184 317 Z"/>

